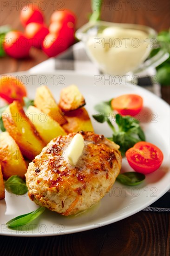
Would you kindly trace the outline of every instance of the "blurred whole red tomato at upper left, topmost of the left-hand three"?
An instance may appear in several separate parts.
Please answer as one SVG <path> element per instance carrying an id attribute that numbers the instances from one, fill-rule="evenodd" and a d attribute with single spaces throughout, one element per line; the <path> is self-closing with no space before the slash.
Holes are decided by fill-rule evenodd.
<path id="1" fill-rule="evenodd" d="M 43 23 L 44 17 L 39 7 L 28 5 L 22 8 L 20 13 L 20 20 L 22 25 L 25 27 L 28 23 L 37 22 Z"/>

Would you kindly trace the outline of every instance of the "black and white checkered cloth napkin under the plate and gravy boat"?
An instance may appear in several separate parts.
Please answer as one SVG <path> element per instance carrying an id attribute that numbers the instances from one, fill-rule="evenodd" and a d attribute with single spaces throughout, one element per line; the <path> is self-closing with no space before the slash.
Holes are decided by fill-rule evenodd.
<path id="1" fill-rule="evenodd" d="M 75 74 L 100 74 L 98 68 L 90 61 L 85 52 L 85 47 L 82 42 L 78 42 L 70 47 L 64 53 L 56 58 L 50 58 L 47 61 L 31 68 L 30 73 L 48 72 L 55 70 L 70 70 Z M 156 75 L 154 68 L 148 68 L 147 71 L 138 74 L 137 84 L 161 96 L 160 85 L 153 83 L 151 77 Z M 143 211 L 170 211 L 170 193 L 167 192 L 156 202 L 145 208 Z"/>

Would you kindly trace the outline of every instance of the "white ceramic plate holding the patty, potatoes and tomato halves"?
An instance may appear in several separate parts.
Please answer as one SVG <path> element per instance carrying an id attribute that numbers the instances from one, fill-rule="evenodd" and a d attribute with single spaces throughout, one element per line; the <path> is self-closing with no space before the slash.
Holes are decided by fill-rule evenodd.
<path id="1" fill-rule="evenodd" d="M 137 187 L 126 187 L 115 182 L 111 191 L 95 207 L 84 214 L 65 217 L 47 210 L 36 220 L 21 226 L 18 230 L 8 229 L 6 222 L 10 219 L 37 209 L 27 195 L 14 195 L 6 192 L 5 200 L 0 201 L 0 234 L 7 236 L 53 236 L 94 229 L 122 220 L 155 202 L 170 187 L 170 109 L 169 105 L 143 88 L 132 85 L 109 85 L 104 77 L 94 85 L 93 76 L 78 75 L 72 72 L 48 74 L 16 73 L 26 84 L 28 96 L 33 98 L 35 89 L 46 84 L 56 100 L 61 88 L 72 83 L 78 85 L 85 96 L 86 108 L 92 116 L 94 105 L 100 101 L 110 100 L 121 94 L 139 94 L 144 99 L 144 109 L 138 116 L 144 128 L 146 140 L 156 144 L 164 155 L 163 164 L 156 172 L 147 175 L 145 181 Z M 109 82 L 110 83 L 110 82 Z M 104 85 L 105 84 L 105 85 Z M 111 135 L 107 124 L 92 120 L 95 132 L 105 136 Z M 124 159 L 123 171 L 131 171 Z"/>

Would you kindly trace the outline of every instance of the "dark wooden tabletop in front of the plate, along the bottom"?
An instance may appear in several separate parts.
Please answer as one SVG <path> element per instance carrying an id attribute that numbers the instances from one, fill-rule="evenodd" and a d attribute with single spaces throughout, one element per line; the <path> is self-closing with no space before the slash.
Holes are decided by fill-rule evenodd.
<path id="1" fill-rule="evenodd" d="M 51 237 L 1 236 L 1 255 L 168 255 L 169 213 L 139 212 L 89 231 Z"/>

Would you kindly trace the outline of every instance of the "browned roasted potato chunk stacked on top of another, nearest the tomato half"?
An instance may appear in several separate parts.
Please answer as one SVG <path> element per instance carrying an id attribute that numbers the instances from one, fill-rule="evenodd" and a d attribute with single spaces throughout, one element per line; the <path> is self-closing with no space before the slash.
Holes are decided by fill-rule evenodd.
<path id="1" fill-rule="evenodd" d="M 61 90 L 59 107 L 64 112 L 76 110 L 85 105 L 85 98 L 76 85 L 70 85 Z"/>

